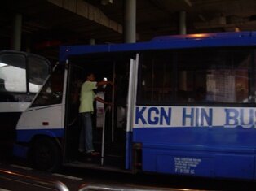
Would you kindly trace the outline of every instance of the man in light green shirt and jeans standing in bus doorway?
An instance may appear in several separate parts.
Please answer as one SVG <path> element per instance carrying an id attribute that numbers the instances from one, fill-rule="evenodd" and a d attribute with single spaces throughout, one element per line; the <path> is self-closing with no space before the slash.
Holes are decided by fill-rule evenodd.
<path id="1" fill-rule="evenodd" d="M 92 156 L 99 154 L 95 152 L 92 143 L 91 114 L 94 112 L 93 102 L 96 100 L 111 105 L 111 103 L 105 102 L 102 98 L 95 95 L 94 89 L 97 89 L 97 87 L 102 85 L 113 85 L 113 83 L 111 81 L 97 82 L 95 81 L 94 73 L 88 73 L 86 81 L 82 84 L 80 93 L 79 113 L 82 116 L 82 129 L 79 141 L 79 151 Z"/>

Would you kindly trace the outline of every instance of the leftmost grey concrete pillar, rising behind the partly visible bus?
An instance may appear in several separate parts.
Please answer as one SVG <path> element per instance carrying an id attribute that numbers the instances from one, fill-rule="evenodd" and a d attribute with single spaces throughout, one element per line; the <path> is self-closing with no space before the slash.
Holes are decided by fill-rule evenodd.
<path id="1" fill-rule="evenodd" d="M 22 15 L 16 14 L 13 23 L 12 49 L 19 50 L 21 48 L 22 33 Z"/>

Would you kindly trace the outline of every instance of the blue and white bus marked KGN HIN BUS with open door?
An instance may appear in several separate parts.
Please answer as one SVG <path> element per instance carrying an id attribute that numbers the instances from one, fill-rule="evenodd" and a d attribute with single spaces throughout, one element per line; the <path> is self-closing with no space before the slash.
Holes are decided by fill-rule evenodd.
<path id="1" fill-rule="evenodd" d="M 52 171 L 112 171 L 256 179 L 256 33 L 156 37 L 134 44 L 61 46 L 60 64 L 16 126 L 15 155 Z M 93 163 L 78 154 L 79 89 L 97 89 Z"/>

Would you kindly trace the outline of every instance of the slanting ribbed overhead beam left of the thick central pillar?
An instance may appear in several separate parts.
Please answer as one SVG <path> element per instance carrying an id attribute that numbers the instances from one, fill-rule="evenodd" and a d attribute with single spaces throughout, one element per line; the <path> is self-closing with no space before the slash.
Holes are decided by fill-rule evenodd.
<path id="1" fill-rule="evenodd" d="M 108 18 L 103 11 L 99 8 L 91 5 L 83 0 L 48 0 L 56 6 L 62 7 L 68 11 L 81 15 L 87 20 L 94 21 L 96 24 L 101 24 L 104 27 L 111 28 L 117 33 L 123 33 L 123 28 L 121 24 Z"/>

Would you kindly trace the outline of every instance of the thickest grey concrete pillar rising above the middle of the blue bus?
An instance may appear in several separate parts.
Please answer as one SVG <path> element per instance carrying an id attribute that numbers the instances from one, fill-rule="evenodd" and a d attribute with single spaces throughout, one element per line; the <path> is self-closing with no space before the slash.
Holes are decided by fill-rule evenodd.
<path id="1" fill-rule="evenodd" d="M 126 43 L 136 42 L 136 0 L 125 0 L 124 40 Z"/>

